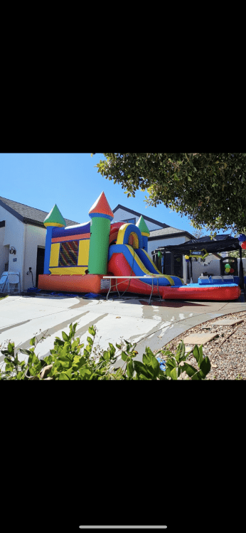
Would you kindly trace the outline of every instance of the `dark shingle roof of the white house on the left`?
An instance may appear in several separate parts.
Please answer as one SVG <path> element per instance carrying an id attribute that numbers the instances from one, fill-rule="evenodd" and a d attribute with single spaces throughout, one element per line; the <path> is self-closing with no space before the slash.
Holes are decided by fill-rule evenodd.
<path id="1" fill-rule="evenodd" d="M 8 200 L 7 198 L 2 198 L 2 196 L 0 196 L 0 205 L 7 211 L 11 212 L 11 214 L 18 218 L 18 220 L 21 220 L 21 222 L 44 227 L 43 220 L 48 215 L 47 211 L 31 208 L 29 205 L 18 203 L 14 200 Z M 69 220 L 68 218 L 64 218 L 64 220 L 67 226 L 79 224 L 79 222 Z"/>

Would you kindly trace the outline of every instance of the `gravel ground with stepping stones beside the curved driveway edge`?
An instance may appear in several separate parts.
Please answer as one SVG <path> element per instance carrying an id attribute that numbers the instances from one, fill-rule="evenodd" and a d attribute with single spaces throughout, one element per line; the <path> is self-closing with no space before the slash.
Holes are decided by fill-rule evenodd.
<path id="1" fill-rule="evenodd" d="M 225 318 L 236 320 L 243 318 L 244 321 L 236 325 L 216 325 L 218 321 Z M 205 379 L 246 379 L 246 311 L 213 318 L 211 321 L 196 325 L 174 338 L 171 343 L 164 345 L 162 350 L 169 349 L 174 354 L 181 340 L 191 333 L 218 334 L 203 346 L 203 356 L 208 355 L 211 363 L 211 370 Z M 186 361 L 198 369 L 192 353 Z"/>

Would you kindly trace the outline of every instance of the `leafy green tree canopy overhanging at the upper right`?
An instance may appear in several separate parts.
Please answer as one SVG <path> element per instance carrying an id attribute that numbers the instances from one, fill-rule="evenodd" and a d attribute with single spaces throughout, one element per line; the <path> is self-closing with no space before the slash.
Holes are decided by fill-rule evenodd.
<path id="1" fill-rule="evenodd" d="M 92 154 L 93 155 L 93 154 Z M 196 229 L 242 232 L 246 226 L 246 154 L 103 154 L 99 173 L 121 183 L 127 198 L 180 212 Z"/>

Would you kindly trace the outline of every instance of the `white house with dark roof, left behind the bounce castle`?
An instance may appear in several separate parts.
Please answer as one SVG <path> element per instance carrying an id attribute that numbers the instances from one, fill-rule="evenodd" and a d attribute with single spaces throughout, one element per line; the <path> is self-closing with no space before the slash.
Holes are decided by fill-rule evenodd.
<path id="1" fill-rule="evenodd" d="M 21 291 L 38 286 L 38 274 L 43 274 L 46 246 L 43 220 L 47 215 L 46 211 L 0 196 L 0 274 L 18 271 Z M 68 226 L 78 223 L 66 218 L 65 222 Z"/>

